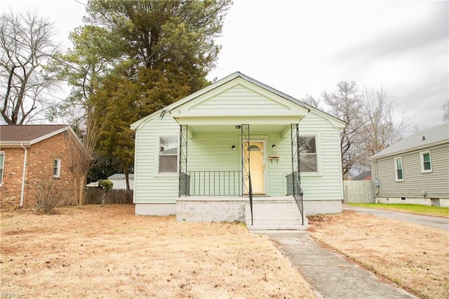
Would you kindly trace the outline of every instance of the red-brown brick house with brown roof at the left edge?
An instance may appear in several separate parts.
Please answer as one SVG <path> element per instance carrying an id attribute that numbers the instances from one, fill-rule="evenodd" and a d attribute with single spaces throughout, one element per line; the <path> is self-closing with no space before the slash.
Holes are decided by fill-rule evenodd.
<path id="1" fill-rule="evenodd" d="M 33 206 L 43 182 L 62 192 L 60 204 L 76 204 L 69 168 L 79 146 L 69 126 L 0 126 L 1 209 Z"/>

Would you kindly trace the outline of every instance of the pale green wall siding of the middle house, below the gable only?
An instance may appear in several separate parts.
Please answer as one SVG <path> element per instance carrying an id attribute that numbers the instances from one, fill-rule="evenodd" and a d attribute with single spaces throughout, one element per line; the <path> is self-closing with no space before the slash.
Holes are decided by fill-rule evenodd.
<path id="1" fill-rule="evenodd" d="M 251 128 L 254 128 L 251 131 Z M 261 126 L 250 126 L 252 140 L 264 140 L 265 191 L 268 196 L 286 195 L 286 175 L 292 173 L 290 131 L 264 133 Z M 159 175 L 159 136 L 179 135 L 180 126 L 170 116 L 154 117 L 136 133 L 135 203 L 175 203 L 178 177 Z M 300 121 L 300 135 L 315 136 L 318 172 L 302 173 L 305 200 L 342 199 L 339 131 L 323 119 L 310 113 Z M 193 136 L 193 137 L 192 137 Z M 236 150 L 232 150 L 232 146 Z M 276 149 L 272 149 L 276 145 Z M 269 155 L 279 156 L 270 161 Z M 234 133 L 195 133 L 188 137 L 187 171 L 241 171 L 241 135 Z"/>

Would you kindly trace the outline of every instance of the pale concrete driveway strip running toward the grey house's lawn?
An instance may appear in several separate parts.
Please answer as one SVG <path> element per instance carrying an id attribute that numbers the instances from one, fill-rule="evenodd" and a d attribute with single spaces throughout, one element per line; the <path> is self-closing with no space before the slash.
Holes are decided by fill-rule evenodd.
<path id="1" fill-rule="evenodd" d="M 441 230 L 449 230 L 449 218 L 432 217 L 426 215 L 415 215 L 410 213 L 378 210 L 375 208 L 359 208 L 357 206 L 343 206 L 343 210 L 357 211 L 366 215 L 375 215 L 384 218 L 411 222 L 419 225 L 436 227 Z"/>

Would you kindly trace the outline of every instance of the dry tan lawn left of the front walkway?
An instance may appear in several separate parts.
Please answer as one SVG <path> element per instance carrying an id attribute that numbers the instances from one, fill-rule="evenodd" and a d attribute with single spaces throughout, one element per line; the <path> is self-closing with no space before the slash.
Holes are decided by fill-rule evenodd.
<path id="1" fill-rule="evenodd" d="M 1 294 L 316 298 L 269 239 L 244 225 L 136 216 L 133 205 L 58 211 L 1 213 Z"/>

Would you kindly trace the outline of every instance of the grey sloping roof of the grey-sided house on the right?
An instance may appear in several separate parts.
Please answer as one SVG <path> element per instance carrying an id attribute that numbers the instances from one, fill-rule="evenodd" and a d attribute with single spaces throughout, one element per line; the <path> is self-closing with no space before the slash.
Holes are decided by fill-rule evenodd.
<path id="1" fill-rule="evenodd" d="M 413 133 L 407 138 L 387 147 L 385 150 L 378 152 L 373 157 L 370 157 L 369 160 L 411 152 L 413 150 L 421 150 L 441 143 L 449 143 L 449 123 Z"/>

